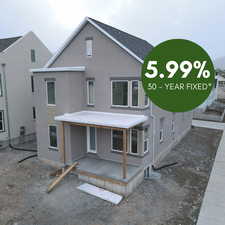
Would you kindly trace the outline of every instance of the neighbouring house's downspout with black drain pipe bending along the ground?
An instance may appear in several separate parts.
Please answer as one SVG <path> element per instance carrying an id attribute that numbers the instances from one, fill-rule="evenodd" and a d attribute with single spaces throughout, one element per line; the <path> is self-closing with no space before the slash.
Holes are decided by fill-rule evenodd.
<path id="1" fill-rule="evenodd" d="M 6 116 L 7 116 L 7 130 L 8 130 L 8 142 L 9 147 L 18 150 L 18 151 L 27 151 L 27 152 L 37 152 L 37 150 L 34 149 L 24 149 L 24 148 L 18 148 L 11 144 L 11 130 L 10 130 L 10 118 L 9 118 L 9 104 L 8 104 L 8 92 L 7 92 L 7 85 L 6 85 L 6 72 L 5 72 L 6 64 L 2 63 L 2 75 L 3 75 L 3 84 L 4 84 L 4 96 L 5 96 L 5 110 L 6 110 Z"/>

